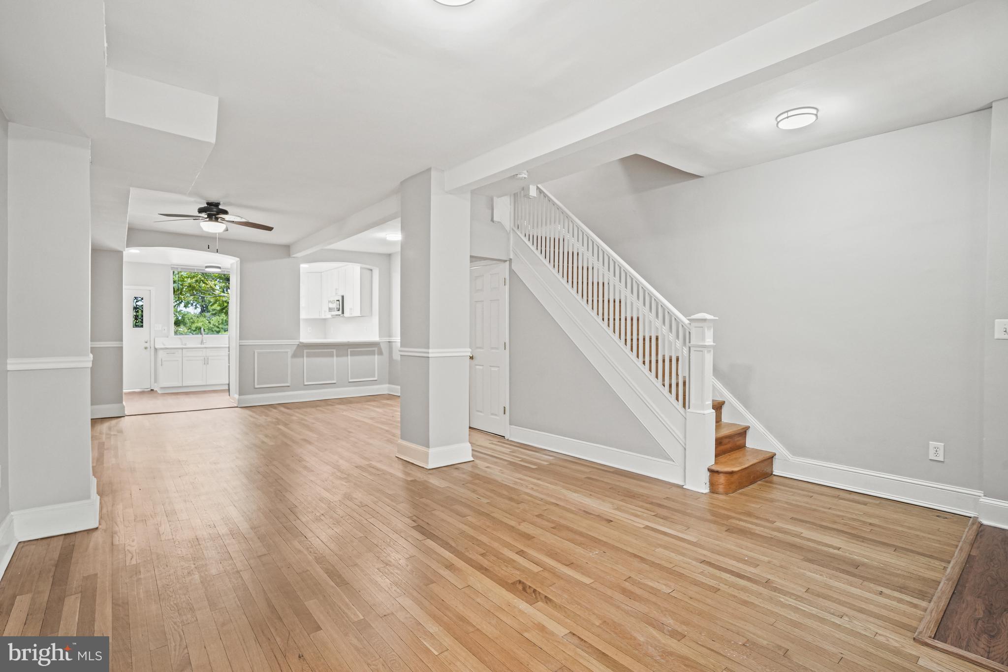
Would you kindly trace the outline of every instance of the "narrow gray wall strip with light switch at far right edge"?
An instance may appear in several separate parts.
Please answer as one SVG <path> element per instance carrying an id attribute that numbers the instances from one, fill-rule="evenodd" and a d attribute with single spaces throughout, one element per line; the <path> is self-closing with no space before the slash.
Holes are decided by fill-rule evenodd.
<path id="1" fill-rule="evenodd" d="M 1008 319 L 1008 99 L 991 118 L 984 338 L 984 495 L 1008 500 L 1008 341 L 991 338 Z"/>

